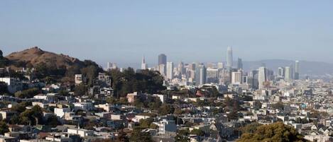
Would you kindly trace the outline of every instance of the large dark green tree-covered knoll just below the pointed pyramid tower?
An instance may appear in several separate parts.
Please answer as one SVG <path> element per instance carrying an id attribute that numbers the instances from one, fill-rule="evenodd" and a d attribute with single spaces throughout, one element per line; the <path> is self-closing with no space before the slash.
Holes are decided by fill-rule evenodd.
<path id="1" fill-rule="evenodd" d="M 135 72 L 132 68 L 123 72 L 114 69 L 108 72 L 116 97 L 126 97 L 128 93 L 160 93 L 165 90 L 164 78 L 158 71 L 142 70 Z"/>

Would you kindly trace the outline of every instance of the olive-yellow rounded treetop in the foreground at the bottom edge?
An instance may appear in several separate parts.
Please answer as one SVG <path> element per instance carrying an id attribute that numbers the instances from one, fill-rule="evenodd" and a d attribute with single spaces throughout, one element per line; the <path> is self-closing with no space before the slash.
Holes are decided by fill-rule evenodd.
<path id="1" fill-rule="evenodd" d="M 261 125 L 258 123 L 249 124 L 241 129 L 243 134 L 238 142 L 246 141 L 305 141 L 302 135 L 298 134 L 292 126 L 282 122 Z"/>

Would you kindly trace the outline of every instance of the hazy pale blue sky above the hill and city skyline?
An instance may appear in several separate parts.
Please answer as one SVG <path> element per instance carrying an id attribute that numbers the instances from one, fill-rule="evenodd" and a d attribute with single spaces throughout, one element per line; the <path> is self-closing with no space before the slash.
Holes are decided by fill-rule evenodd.
<path id="1" fill-rule="evenodd" d="M 38 46 L 99 64 L 234 59 L 333 63 L 333 1 L 0 1 L 4 54 Z"/>

